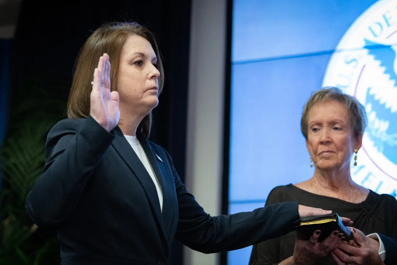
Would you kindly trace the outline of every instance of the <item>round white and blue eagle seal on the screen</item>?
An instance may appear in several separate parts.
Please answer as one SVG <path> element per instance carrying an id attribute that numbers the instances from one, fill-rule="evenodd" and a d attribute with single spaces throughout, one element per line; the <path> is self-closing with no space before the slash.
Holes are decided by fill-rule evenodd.
<path id="1" fill-rule="evenodd" d="M 346 31 L 323 86 L 335 86 L 365 106 L 368 127 L 351 164 L 352 178 L 397 197 L 397 2 L 380 0 Z"/>

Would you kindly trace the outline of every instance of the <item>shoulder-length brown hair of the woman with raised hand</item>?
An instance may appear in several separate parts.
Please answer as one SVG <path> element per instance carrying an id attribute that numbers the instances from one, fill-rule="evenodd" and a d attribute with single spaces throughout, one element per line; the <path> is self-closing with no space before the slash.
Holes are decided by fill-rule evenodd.
<path id="1" fill-rule="evenodd" d="M 160 72 L 158 77 L 159 95 L 164 85 L 164 68 L 158 49 L 156 38 L 146 27 L 135 22 L 116 22 L 105 24 L 98 28 L 87 39 L 80 50 L 76 60 L 75 73 L 67 101 L 68 118 L 87 118 L 90 115 L 90 94 L 91 81 L 93 80 L 94 69 L 98 65 L 99 57 L 107 53 L 111 64 L 110 83 L 112 91 L 117 91 L 116 77 L 118 75 L 121 48 L 127 38 L 131 35 L 138 35 L 145 38 L 157 56 L 157 67 Z M 146 138 L 150 136 L 152 128 L 152 112 L 143 118 L 138 126 Z"/>

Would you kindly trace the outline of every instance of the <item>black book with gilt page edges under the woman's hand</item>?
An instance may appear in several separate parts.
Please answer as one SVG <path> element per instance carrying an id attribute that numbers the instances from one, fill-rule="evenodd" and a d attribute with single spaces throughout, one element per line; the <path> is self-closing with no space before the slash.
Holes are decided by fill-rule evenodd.
<path id="1" fill-rule="evenodd" d="M 299 232 L 305 240 L 308 240 L 316 230 L 321 230 L 318 242 L 326 239 L 335 230 L 343 233 L 345 237 L 343 240 L 349 241 L 353 239 L 353 234 L 349 227 L 343 224 L 342 219 L 337 213 L 303 217 L 295 222 L 295 231 Z"/>

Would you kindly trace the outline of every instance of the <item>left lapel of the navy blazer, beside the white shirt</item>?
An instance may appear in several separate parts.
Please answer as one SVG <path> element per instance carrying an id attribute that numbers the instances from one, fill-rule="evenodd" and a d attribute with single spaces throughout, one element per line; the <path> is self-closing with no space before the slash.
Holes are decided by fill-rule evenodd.
<path id="1" fill-rule="evenodd" d="M 125 137 L 124 137 L 123 133 L 121 132 L 121 130 L 119 129 L 119 127 L 117 126 L 114 129 L 114 131 L 116 132 L 116 137 L 112 141 L 112 146 L 114 147 L 114 149 L 116 149 L 117 153 L 125 161 L 125 163 L 129 166 L 129 168 L 132 170 L 132 172 L 135 174 L 135 176 L 141 183 L 143 189 L 146 192 L 146 196 L 148 197 L 148 201 L 149 201 L 150 205 L 152 206 L 154 216 L 156 217 L 156 219 L 160 225 L 164 239 L 166 240 L 164 223 L 163 223 L 161 208 L 160 208 L 160 201 L 158 199 L 156 186 L 154 185 L 153 180 L 150 177 L 149 173 L 147 172 L 145 166 L 142 164 L 141 160 L 139 159 L 139 157 L 137 156 L 137 154 L 135 153 L 135 151 L 131 147 L 131 145 L 129 145 L 127 139 L 125 139 Z M 145 152 L 146 152 L 146 150 L 145 150 Z M 149 158 L 149 162 L 152 164 L 150 157 L 153 157 L 153 155 L 147 154 L 147 157 Z M 152 167 L 153 167 L 153 169 L 155 168 L 155 166 L 153 166 L 153 165 L 152 165 Z M 157 166 L 156 166 L 156 168 L 157 168 Z M 156 172 L 156 170 L 155 170 L 155 172 Z M 157 175 L 157 172 L 156 172 L 156 175 Z M 160 180 L 159 180 L 159 182 L 160 182 Z M 160 185 L 161 184 L 162 184 L 162 180 L 160 182 Z M 164 199 L 163 199 L 163 201 L 164 201 Z"/>

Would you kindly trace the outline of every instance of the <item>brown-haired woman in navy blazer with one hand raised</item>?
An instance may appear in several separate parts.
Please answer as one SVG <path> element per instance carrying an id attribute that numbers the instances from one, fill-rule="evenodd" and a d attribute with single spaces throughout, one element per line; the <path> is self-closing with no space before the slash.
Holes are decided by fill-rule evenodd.
<path id="1" fill-rule="evenodd" d="M 57 229 L 62 265 L 166 264 L 174 238 L 203 253 L 229 251 L 330 213 L 297 202 L 205 213 L 170 155 L 147 140 L 163 81 L 155 38 L 141 25 L 104 25 L 84 44 L 68 118 L 48 133 L 46 164 L 26 200 L 38 226 Z"/>

